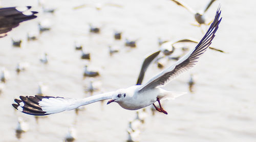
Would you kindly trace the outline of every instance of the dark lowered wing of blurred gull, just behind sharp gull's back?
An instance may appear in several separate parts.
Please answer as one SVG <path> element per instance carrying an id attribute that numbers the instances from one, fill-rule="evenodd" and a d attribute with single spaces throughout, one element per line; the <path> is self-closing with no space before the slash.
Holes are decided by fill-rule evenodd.
<path id="1" fill-rule="evenodd" d="M 150 63 L 159 55 L 159 53 L 160 53 L 160 51 L 157 51 L 157 52 L 151 54 L 150 56 L 148 56 L 148 57 L 146 57 L 146 58 L 144 59 L 143 64 L 142 64 L 141 69 L 140 69 L 140 74 L 139 74 L 139 77 L 138 77 L 138 80 L 137 80 L 136 85 L 141 85 L 147 67 L 148 67 L 148 66 L 150 65 Z"/>

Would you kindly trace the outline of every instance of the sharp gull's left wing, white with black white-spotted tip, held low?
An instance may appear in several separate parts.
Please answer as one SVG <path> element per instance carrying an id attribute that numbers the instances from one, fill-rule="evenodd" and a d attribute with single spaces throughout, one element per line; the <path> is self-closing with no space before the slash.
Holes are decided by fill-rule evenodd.
<path id="1" fill-rule="evenodd" d="M 84 99 L 50 97 L 50 96 L 19 96 L 12 104 L 17 110 L 31 115 L 48 115 L 59 113 L 65 110 L 76 109 L 79 106 L 88 105 L 94 102 L 111 99 L 113 92 L 96 94 Z"/>

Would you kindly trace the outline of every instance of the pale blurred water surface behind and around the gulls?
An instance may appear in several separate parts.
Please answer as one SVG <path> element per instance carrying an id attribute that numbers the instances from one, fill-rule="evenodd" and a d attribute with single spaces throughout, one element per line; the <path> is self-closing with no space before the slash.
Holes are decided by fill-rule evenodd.
<path id="1" fill-rule="evenodd" d="M 207 0 L 184 0 L 187 5 L 200 10 Z M 112 91 L 134 85 L 143 58 L 159 49 L 159 37 L 173 40 L 183 37 L 201 39 L 200 28 L 191 26 L 193 15 L 172 1 L 46 1 L 45 6 L 56 8 L 54 14 L 42 12 L 37 1 L 4 1 L 2 7 L 32 6 L 37 18 L 22 23 L 7 37 L 0 39 L 0 67 L 9 77 L 1 83 L 0 141 L 63 141 L 69 127 L 77 131 L 76 141 L 125 141 L 127 126 L 136 111 L 124 110 L 118 104 L 97 102 L 79 112 L 67 111 L 39 117 L 15 111 L 11 104 L 19 95 L 37 93 L 38 82 L 45 85 L 45 94 L 68 98 L 90 96 L 84 92 L 91 79 L 83 79 L 83 67 L 99 70 L 99 91 Z M 114 3 L 122 6 L 95 8 L 73 7 L 81 4 Z M 256 139 L 256 63 L 255 14 L 251 7 L 255 1 L 217 1 L 206 13 L 214 17 L 221 3 L 223 17 L 212 46 L 227 54 L 208 50 L 198 65 L 182 74 L 164 88 L 172 91 L 189 91 L 188 80 L 194 74 L 195 93 L 187 93 L 164 102 L 168 115 L 156 112 L 148 117 L 140 133 L 140 141 L 255 141 Z M 38 22 L 49 22 L 51 30 L 39 34 Z M 101 27 L 100 34 L 89 32 L 89 24 Z M 208 27 L 203 27 L 207 29 Z M 123 38 L 114 40 L 114 31 Z M 38 40 L 27 41 L 27 33 L 35 32 Z M 22 47 L 14 48 L 11 38 L 22 39 Z M 137 48 L 124 46 L 124 39 L 136 40 Z M 74 42 L 91 53 L 91 60 L 81 60 Z M 119 53 L 109 55 L 108 45 L 118 46 Z M 194 45 L 195 46 L 195 45 Z M 191 46 L 194 48 L 194 46 Z M 39 61 L 45 53 L 48 64 Z M 29 66 L 17 74 L 18 62 Z M 171 65 L 173 62 L 169 62 Z M 147 81 L 161 69 L 151 65 L 145 75 Z M 16 138 L 18 117 L 28 123 L 29 130 Z"/>

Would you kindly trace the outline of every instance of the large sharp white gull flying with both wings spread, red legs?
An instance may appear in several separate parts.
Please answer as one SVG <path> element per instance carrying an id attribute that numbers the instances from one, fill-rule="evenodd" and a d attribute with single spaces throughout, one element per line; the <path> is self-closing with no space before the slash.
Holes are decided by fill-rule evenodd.
<path id="1" fill-rule="evenodd" d="M 215 33 L 218 30 L 221 10 L 218 8 L 214 21 L 211 23 L 208 31 L 197 44 L 196 48 L 188 52 L 172 66 L 167 67 L 162 72 L 151 78 L 147 83 L 134 85 L 128 88 L 118 89 L 116 91 L 96 94 L 83 99 L 62 98 L 51 96 L 19 96 L 12 104 L 17 110 L 31 115 L 48 115 L 59 113 L 66 110 L 73 110 L 83 105 L 88 105 L 97 101 L 107 100 L 107 104 L 118 103 L 122 108 L 128 110 L 138 110 L 146 106 L 154 105 L 157 111 L 167 114 L 162 108 L 160 100 L 175 99 L 184 92 L 167 91 L 163 88 L 169 81 L 177 78 L 181 73 L 193 67 L 197 59 L 208 49 Z M 154 104 L 159 103 L 159 108 Z"/>

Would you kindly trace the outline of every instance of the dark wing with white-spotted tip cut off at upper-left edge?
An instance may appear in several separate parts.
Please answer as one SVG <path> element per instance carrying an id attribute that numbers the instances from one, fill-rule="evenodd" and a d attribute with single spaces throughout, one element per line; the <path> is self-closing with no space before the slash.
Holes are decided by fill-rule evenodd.
<path id="1" fill-rule="evenodd" d="M 36 11 L 27 11 L 30 8 L 31 6 L 0 8 L 0 37 L 6 36 L 20 22 L 36 18 Z"/>

